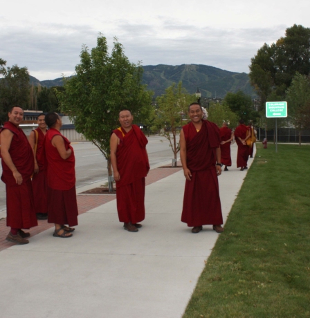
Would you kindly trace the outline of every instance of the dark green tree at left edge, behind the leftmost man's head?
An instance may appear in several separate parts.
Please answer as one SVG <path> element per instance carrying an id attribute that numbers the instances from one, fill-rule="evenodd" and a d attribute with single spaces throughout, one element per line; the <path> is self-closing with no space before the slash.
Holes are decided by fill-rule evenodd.
<path id="1" fill-rule="evenodd" d="M 14 105 L 27 108 L 29 102 L 29 73 L 26 67 L 16 65 L 6 68 L 0 59 L 0 124 L 8 120 L 8 111 Z"/>

